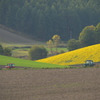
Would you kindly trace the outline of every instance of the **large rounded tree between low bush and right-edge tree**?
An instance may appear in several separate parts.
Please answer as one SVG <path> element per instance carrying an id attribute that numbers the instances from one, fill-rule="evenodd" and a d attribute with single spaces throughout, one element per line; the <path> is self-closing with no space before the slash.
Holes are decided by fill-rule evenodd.
<path id="1" fill-rule="evenodd" d="M 79 35 L 79 42 L 82 46 L 93 45 L 94 42 L 94 29 L 93 25 L 86 26 Z"/>

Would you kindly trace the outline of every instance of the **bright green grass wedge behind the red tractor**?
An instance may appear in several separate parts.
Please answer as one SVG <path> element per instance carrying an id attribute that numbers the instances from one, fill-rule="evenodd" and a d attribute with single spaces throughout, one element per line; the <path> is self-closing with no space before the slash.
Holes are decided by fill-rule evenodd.
<path id="1" fill-rule="evenodd" d="M 6 65 L 7 63 L 14 63 L 15 66 L 32 67 L 32 68 L 66 68 L 66 67 L 69 67 L 69 66 L 41 63 L 41 62 L 35 62 L 31 60 L 24 60 L 20 58 L 6 57 L 6 56 L 0 55 L 0 65 Z"/>

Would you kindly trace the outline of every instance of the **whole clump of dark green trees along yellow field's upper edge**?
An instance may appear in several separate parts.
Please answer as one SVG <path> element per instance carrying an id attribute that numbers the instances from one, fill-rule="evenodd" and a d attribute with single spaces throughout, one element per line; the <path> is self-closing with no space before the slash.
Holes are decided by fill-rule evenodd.
<path id="1" fill-rule="evenodd" d="M 70 39 L 67 43 L 68 50 L 100 43 L 100 23 L 95 26 L 86 26 L 79 34 L 79 39 Z"/>

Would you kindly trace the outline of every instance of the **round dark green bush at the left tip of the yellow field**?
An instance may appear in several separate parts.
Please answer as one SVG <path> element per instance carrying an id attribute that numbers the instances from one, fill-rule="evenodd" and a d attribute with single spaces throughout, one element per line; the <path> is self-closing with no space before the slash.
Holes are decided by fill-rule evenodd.
<path id="1" fill-rule="evenodd" d="M 29 50 L 29 59 L 38 60 L 47 57 L 47 50 L 43 46 L 35 45 Z"/>

